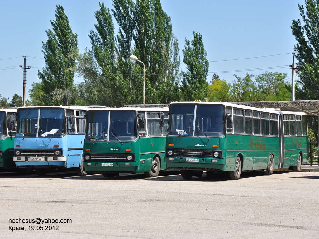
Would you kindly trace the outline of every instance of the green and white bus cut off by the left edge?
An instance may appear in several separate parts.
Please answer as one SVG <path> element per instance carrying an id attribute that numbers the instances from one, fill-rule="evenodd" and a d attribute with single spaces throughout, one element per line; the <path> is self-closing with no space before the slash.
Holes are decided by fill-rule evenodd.
<path id="1" fill-rule="evenodd" d="M 15 170 L 13 162 L 14 137 L 16 135 L 17 109 L 0 109 L 0 168 Z"/>

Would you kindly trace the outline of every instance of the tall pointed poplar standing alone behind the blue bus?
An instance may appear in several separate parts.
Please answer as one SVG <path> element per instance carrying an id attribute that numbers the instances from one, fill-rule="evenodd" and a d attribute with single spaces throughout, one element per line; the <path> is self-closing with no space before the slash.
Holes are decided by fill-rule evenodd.
<path id="1" fill-rule="evenodd" d="M 42 99 L 45 105 L 69 105 L 75 101 L 74 72 L 70 71 L 70 68 L 74 67 L 76 62 L 69 55 L 78 45 L 78 35 L 72 33 L 69 19 L 61 5 L 56 6 L 55 16 L 56 20 L 50 21 L 53 31 L 46 30 L 48 40 L 46 43 L 42 41 L 41 51 L 46 67 L 42 68 L 42 72 L 38 71 L 38 77 L 43 83 L 41 90 L 45 95 Z M 70 92 L 73 97 L 70 97 Z"/>

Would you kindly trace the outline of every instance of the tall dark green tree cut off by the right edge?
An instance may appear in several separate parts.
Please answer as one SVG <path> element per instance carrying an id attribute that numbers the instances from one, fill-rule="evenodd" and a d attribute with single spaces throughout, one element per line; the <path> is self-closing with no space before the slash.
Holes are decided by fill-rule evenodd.
<path id="1" fill-rule="evenodd" d="M 305 6 L 298 4 L 300 19 L 293 20 L 292 33 L 297 40 L 294 50 L 298 60 L 297 74 L 307 99 L 319 98 L 319 1 L 306 0 Z M 306 12 L 305 12 L 306 10 Z M 301 95 L 302 96 L 302 95 Z"/>

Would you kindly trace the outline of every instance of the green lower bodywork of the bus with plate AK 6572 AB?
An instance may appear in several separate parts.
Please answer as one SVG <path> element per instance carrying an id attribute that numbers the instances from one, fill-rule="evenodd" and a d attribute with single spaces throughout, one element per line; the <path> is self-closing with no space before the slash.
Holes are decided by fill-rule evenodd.
<path id="1" fill-rule="evenodd" d="M 118 172 L 149 172 L 151 170 L 152 159 L 159 156 L 161 160 L 161 170 L 166 169 L 165 156 L 165 136 L 160 137 L 141 137 L 133 142 L 84 142 L 84 154 L 134 154 L 135 161 L 107 161 L 94 162 L 93 160 L 85 161 L 85 171 L 118 171 Z M 90 149 L 90 151 L 86 151 Z M 131 151 L 126 151 L 131 149 Z M 87 165 L 86 163 L 91 163 Z M 102 166 L 101 163 L 113 163 L 113 166 Z M 130 165 L 124 165 L 130 163 Z"/>

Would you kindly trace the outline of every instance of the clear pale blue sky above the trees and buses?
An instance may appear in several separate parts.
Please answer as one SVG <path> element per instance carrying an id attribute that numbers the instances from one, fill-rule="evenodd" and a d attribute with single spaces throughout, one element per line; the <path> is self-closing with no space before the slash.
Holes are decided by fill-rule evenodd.
<path id="1" fill-rule="evenodd" d="M 102 3 L 102 1 L 100 1 Z M 258 75 L 268 72 L 287 74 L 291 81 L 293 47 L 296 40 L 291 32 L 293 19 L 300 19 L 297 4 L 305 0 L 161 0 L 166 14 L 171 18 L 173 33 L 178 39 L 183 64 L 182 49 L 185 38 L 193 40 L 193 31 L 203 36 L 207 51 L 209 74 L 207 81 L 216 73 L 220 79 L 232 83 L 237 76 Z M 0 9 L 0 94 L 9 98 L 14 94 L 22 97 L 23 56 L 26 57 L 26 99 L 32 83 L 40 82 L 38 70 L 45 67 L 43 42 L 46 30 L 52 29 L 56 5 L 64 8 L 73 33 L 78 34 L 80 52 L 91 48 L 88 37 L 94 30 L 94 12 L 99 1 L 3 1 Z M 112 1 L 104 2 L 110 10 Z M 115 20 L 115 34 L 118 28 Z M 250 58 L 250 59 L 245 59 Z M 240 59 L 240 60 L 238 60 Z M 75 82 L 81 81 L 75 77 Z"/>

